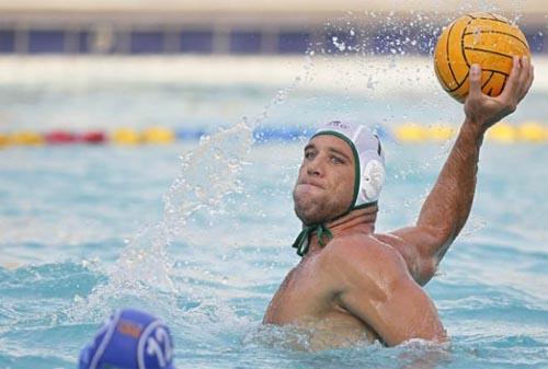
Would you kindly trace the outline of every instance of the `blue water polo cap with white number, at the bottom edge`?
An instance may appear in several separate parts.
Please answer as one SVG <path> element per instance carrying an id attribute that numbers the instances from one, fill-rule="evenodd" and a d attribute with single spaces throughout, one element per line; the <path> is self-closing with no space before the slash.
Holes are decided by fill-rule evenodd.
<path id="1" fill-rule="evenodd" d="M 139 310 L 117 310 L 80 351 L 80 369 L 174 369 L 170 330 Z"/>

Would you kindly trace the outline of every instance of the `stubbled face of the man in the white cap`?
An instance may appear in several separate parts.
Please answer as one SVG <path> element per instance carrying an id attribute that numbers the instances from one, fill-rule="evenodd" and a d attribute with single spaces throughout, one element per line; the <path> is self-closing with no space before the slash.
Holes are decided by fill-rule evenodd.
<path id="1" fill-rule="evenodd" d="M 346 211 L 354 196 L 355 161 L 344 140 L 320 135 L 305 147 L 293 189 L 295 214 L 305 224 L 333 219 Z"/>

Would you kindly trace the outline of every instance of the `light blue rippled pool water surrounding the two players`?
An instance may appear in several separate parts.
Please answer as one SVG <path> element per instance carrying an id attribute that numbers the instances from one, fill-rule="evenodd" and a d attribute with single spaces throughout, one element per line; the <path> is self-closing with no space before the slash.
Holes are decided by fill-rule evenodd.
<path id="1" fill-rule="evenodd" d="M 349 78 L 366 84 L 369 77 L 362 70 Z M 111 84 L 4 84 L 4 124 L 226 129 L 199 146 L 0 151 L 0 368 L 75 368 L 80 347 L 121 305 L 169 322 L 178 368 L 547 367 L 544 145 L 484 145 L 471 217 L 426 288 L 450 348 L 310 353 L 306 336 L 261 326 L 272 293 L 298 262 L 290 191 L 301 142 L 252 145 L 250 128 L 255 117 L 261 126 L 309 127 L 338 116 L 387 126 L 460 123 L 460 106 L 443 94 L 424 88 L 377 95 L 377 81 L 364 85 L 365 102 L 344 87 L 285 81 L 212 88 L 145 74 Z M 513 119 L 546 122 L 547 97 L 534 91 Z M 244 115 L 248 124 L 238 124 Z M 413 221 L 448 149 L 385 146 L 379 231 Z"/>

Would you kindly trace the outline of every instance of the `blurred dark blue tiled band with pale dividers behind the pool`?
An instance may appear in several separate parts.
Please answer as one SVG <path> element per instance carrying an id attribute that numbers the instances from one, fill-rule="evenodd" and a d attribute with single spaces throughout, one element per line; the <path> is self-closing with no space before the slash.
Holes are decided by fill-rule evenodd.
<path id="1" fill-rule="evenodd" d="M 354 28 L 352 28 L 354 30 Z M 533 53 L 546 53 L 541 31 L 525 28 Z M 354 31 L 352 31 L 354 32 Z M 185 27 L 142 27 L 139 25 L 100 24 L 89 27 L 38 27 L 33 25 L 0 30 L 0 54 L 100 54 L 100 55 L 170 55 L 170 54 L 230 54 L 269 55 L 304 54 L 310 47 L 326 54 L 429 54 L 437 34 L 416 32 L 409 42 L 381 28 L 367 36 L 352 35 L 350 30 L 278 30 L 261 27 L 222 27 L 208 25 Z M 366 34 L 363 32 L 362 34 Z M 339 46 L 342 45 L 342 46 Z M 395 46 L 397 45 L 397 46 Z M 396 47 L 396 48 L 395 48 Z"/>

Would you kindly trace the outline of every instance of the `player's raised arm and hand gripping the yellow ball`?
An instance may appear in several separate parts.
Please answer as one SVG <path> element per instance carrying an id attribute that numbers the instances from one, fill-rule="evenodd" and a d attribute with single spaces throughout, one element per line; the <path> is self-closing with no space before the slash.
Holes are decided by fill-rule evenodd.
<path id="1" fill-rule="evenodd" d="M 426 197 L 414 227 L 379 239 L 400 251 L 413 278 L 425 285 L 466 223 L 476 191 L 476 173 L 483 135 L 489 127 L 516 109 L 533 83 L 528 58 L 514 57 L 504 91 L 496 97 L 481 92 L 481 69 L 470 69 L 466 119 L 434 188 Z"/>

